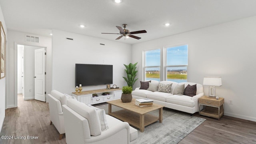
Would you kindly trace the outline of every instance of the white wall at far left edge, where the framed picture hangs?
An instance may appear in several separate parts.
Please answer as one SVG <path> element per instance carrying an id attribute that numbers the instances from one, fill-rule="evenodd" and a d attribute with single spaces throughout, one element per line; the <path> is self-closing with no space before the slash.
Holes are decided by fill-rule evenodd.
<path id="1" fill-rule="evenodd" d="M 4 21 L 4 16 L 3 16 L 3 12 L 2 12 L 2 8 L 0 6 L 0 21 L 2 22 L 2 25 L 4 27 L 4 32 L 5 32 L 5 36 L 6 36 L 6 41 L 7 41 L 7 37 L 8 37 L 8 34 L 7 34 L 7 29 L 6 29 L 6 25 L 5 25 L 5 21 Z M 7 53 L 8 53 L 8 50 L 7 50 L 7 42 L 6 42 L 6 58 L 8 57 L 7 56 Z M 6 59 L 5 59 L 6 60 Z M 6 65 L 8 64 L 8 60 L 6 60 Z M 8 75 L 8 72 L 6 70 L 6 77 Z M 3 126 L 3 122 L 4 122 L 4 117 L 5 117 L 5 106 L 6 106 L 6 99 L 5 99 L 5 95 L 6 95 L 6 77 L 5 78 L 2 78 L 0 79 L 0 132 L 2 130 L 2 126 Z"/>

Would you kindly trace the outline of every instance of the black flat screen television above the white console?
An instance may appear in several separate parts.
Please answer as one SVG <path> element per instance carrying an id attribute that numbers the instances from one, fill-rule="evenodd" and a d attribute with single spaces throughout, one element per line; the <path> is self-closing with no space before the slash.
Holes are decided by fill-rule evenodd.
<path id="1" fill-rule="evenodd" d="M 76 64 L 76 86 L 113 84 L 113 65 Z"/>

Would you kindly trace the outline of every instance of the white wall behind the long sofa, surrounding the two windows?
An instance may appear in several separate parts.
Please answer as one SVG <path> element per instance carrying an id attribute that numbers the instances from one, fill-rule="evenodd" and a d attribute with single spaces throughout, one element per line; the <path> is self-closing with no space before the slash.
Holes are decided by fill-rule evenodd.
<path id="1" fill-rule="evenodd" d="M 256 121 L 255 25 L 256 16 L 134 44 L 132 62 L 139 62 L 142 80 L 143 50 L 187 43 L 188 82 L 202 84 L 204 76 L 221 76 L 216 95 L 225 98 L 224 115 Z M 208 95 L 208 86 L 204 86 L 204 94 Z"/>

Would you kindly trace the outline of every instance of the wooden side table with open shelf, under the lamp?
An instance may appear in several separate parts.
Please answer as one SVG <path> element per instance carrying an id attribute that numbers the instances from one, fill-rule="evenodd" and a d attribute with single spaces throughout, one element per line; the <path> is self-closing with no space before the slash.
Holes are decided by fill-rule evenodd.
<path id="1" fill-rule="evenodd" d="M 205 106 L 205 108 L 200 111 L 199 115 L 203 116 L 209 116 L 212 118 L 218 118 L 220 120 L 220 117 L 224 115 L 224 98 L 219 98 L 216 100 L 216 98 L 211 98 L 209 96 L 202 96 L 199 98 L 199 109 L 200 105 Z"/>

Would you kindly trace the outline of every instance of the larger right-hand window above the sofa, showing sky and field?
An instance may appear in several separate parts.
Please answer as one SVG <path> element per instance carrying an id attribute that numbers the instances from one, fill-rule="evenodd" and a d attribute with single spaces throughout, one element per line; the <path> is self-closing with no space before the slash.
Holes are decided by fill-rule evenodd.
<path id="1" fill-rule="evenodd" d="M 166 47 L 166 80 L 187 82 L 188 45 Z"/>

